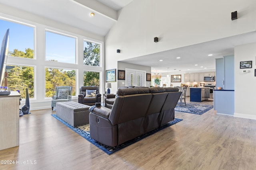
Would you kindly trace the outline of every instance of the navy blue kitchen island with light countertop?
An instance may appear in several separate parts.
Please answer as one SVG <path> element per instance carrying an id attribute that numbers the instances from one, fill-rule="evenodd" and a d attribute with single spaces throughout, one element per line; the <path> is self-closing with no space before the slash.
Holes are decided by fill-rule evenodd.
<path id="1" fill-rule="evenodd" d="M 190 102 L 202 102 L 208 100 L 209 87 L 190 87 Z"/>

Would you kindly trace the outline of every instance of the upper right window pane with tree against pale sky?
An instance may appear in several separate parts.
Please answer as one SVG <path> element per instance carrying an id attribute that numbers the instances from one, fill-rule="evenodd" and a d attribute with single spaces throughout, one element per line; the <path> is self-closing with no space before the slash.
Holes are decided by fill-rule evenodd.
<path id="1" fill-rule="evenodd" d="M 84 41 L 84 65 L 100 66 L 100 45 Z"/>

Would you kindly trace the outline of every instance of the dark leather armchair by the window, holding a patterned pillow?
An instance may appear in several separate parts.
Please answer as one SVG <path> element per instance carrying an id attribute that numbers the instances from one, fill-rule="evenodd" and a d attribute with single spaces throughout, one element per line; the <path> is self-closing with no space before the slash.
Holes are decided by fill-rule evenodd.
<path id="1" fill-rule="evenodd" d="M 96 90 L 95 97 L 86 97 L 86 90 Z M 101 94 L 98 86 L 82 86 L 78 95 L 78 103 L 94 106 L 95 103 L 101 102 Z"/>

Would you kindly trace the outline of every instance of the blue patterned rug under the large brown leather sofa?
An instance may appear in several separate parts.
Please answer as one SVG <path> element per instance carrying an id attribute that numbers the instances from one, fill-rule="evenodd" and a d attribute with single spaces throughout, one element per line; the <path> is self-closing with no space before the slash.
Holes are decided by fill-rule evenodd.
<path id="1" fill-rule="evenodd" d="M 153 135 L 154 133 L 166 128 L 166 127 L 170 127 L 171 125 L 174 125 L 175 123 L 178 123 L 179 121 L 182 121 L 182 119 L 177 119 L 175 118 L 173 121 L 170 121 L 168 123 L 166 123 L 165 125 L 162 125 L 161 127 L 159 127 L 158 129 L 154 129 L 144 135 L 141 135 L 135 139 L 132 139 L 130 141 L 127 141 L 121 145 L 118 145 L 116 147 L 108 147 L 106 145 L 103 145 L 97 141 L 95 141 L 94 139 L 92 139 L 90 137 L 89 133 L 86 133 L 85 131 L 83 131 L 82 129 L 78 128 L 78 127 L 72 127 L 71 125 L 69 125 L 68 123 L 66 123 L 65 121 L 63 121 L 62 119 L 60 119 L 58 116 L 56 116 L 56 114 L 52 114 L 53 117 L 55 117 L 57 120 L 59 120 L 60 122 L 62 122 L 64 125 L 66 125 L 67 127 L 69 127 L 70 129 L 72 129 L 74 132 L 76 132 L 78 135 L 80 135 L 81 137 L 83 137 L 84 139 L 86 139 L 87 141 L 89 141 L 90 143 L 92 143 L 93 145 L 95 145 L 96 147 L 98 147 L 99 149 L 101 149 L 102 151 L 104 151 L 106 154 L 110 155 L 114 152 L 117 152 L 120 149 L 123 149 L 125 147 L 128 147 L 129 145 L 132 145 L 133 143 L 136 143 L 138 141 L 140 141 L 141 139 L 144 139 L 150 135 Z"/>

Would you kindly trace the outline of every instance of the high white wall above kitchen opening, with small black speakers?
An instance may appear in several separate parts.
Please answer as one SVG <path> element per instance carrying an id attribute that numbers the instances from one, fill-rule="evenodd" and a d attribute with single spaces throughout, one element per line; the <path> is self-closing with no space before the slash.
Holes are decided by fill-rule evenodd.
<path id="1" fill-rule="evenodd" d="M 238 20 L 232 21 L 234 11 Z M 255 31 L 256 1 L 134 0 L 118 14 L 105 37 L 106 69 L 116 68 L 116 61 Z"/>

